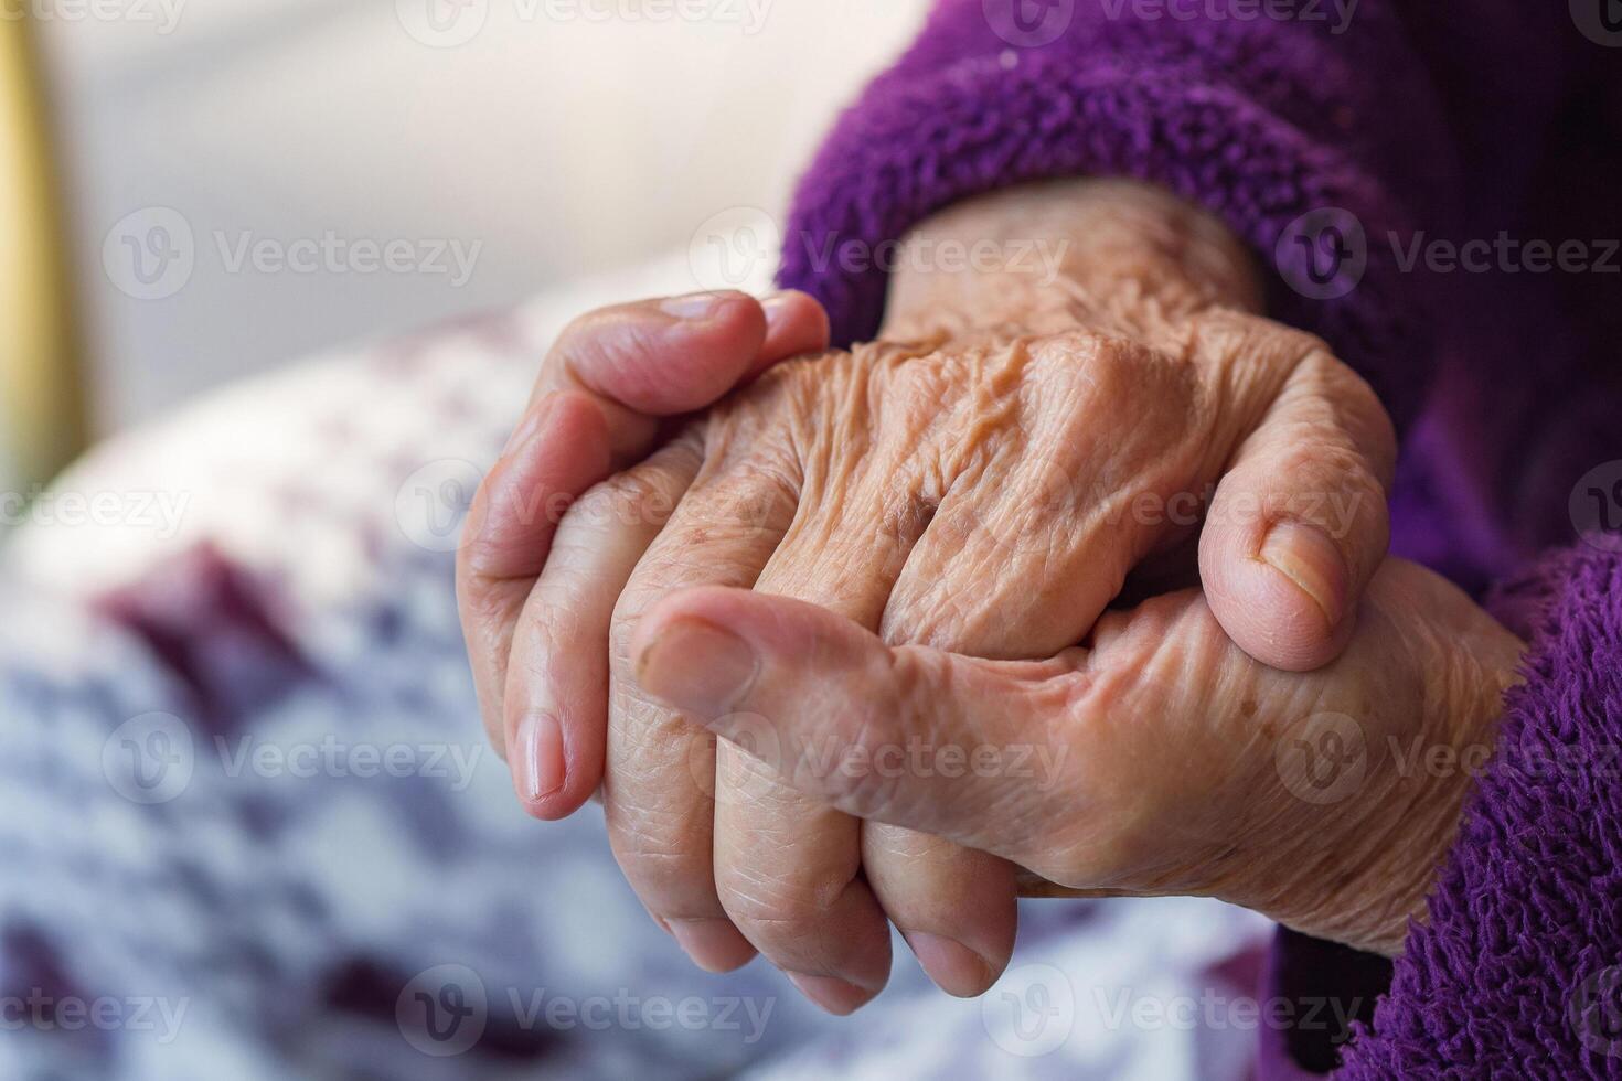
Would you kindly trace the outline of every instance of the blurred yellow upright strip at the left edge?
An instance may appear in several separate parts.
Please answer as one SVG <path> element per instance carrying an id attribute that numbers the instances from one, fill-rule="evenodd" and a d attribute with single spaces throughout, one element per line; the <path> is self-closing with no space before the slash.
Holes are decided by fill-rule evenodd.
<path id="1" fill-rule="evenodd" d="M 24 493 L 73 459 L 86 438 L 60 185 L 36 65 L 26 13 L 6 11 L 0 18 L 0 488 Z"/>

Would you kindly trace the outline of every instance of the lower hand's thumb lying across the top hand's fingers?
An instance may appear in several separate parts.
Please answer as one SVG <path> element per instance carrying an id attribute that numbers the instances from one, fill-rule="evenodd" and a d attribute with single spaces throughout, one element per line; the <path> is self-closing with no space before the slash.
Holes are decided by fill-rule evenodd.
<path id="1" fill-rule="evenodd" d="M 814 605 L 699 587 L 649 609 L 631 656 L 647 692 L 860 818 L 1023 862 L 1062 789 L 1054 741 L 1080 652 L 892 648 Z"/>

